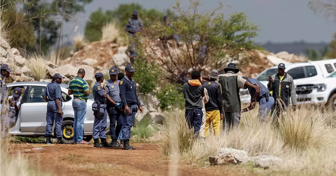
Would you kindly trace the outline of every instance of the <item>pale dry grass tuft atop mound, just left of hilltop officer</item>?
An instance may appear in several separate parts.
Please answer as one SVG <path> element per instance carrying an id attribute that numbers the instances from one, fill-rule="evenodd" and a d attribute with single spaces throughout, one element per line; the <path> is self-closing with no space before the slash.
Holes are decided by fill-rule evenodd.
<path id="1" fill-rule="evenodd" d="M 118 24 L 114 21 L 106 24 L 102 29 L 101 40 L 111 41 L 117 43 L 120 36 L 120 28 Z"/>

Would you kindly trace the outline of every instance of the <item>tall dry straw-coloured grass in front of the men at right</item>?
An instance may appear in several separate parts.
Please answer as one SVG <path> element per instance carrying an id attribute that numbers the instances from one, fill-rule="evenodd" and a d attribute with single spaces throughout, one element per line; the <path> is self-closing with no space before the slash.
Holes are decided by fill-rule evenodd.
<path id="1" fill-rule="evenodd" d="M 274 126 L 270 120 L 261 122 L 255 109 L 242 114 L 237 130 L 224 132 L 221 125 L 218 137 L 210 133 L 206 140 L 194 140 L 184 113 L 175 112 L 167 114 L 162 128 L 166 134 L 162 140 L 163 153 L 174 152 L 172 139 L 177 138 L 178 142 L 186 142 L 179 143 L 177 149 L 183 160 L 204 162 L 222 147 L 229 147 L 245 150 L 250 156 L 278 156 L 285 161 L 281 171 L 293 175 L 336 175 L 336 128 L 328 123 L 334 115 L 310 109 L 289 111 L 279 119 L 279 126 Z M 177 136 L 172 136 L 172 131 L 178 132 Z"/>

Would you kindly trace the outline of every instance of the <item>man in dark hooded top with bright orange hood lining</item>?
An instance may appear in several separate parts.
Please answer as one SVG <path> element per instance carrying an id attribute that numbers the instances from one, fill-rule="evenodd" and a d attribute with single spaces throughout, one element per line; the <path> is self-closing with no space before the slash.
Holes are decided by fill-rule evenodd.
<path id="1" fill-rule="evenodd" d="M 183 84 L 185 119 L 190 129 L 194 127 L 194 134 L 196 135 L 202 125 L 202 98 L 205 94 L 204 87 L 201 84 L 201 72 L 193 71 L 191 78 L 191 80 Z"/>

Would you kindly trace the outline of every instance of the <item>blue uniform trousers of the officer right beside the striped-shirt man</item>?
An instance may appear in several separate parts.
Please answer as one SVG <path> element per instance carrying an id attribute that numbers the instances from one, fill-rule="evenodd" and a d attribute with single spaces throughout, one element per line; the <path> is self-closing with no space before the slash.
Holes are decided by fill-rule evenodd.
<path id="1" fill-rule="evenodd" d="M 102 112 L 104 110 L 104 117 L 102 119 L 94 118 L 93 122 L 93 139 L 106 138 L 105 129 L 107 127 L 107 111 L 106 108 L 100 108 Z"/>

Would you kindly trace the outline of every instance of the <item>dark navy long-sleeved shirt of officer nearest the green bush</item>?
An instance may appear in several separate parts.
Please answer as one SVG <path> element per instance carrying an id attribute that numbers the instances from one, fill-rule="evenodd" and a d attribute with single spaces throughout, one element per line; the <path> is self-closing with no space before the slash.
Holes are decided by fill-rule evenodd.
<path id="1" fill-rule="evenodd" d="M 127 102 L 135 103 L 140 107 L 140 102 L 138 96 L 136 95 L 136 85 L 135 81 L 130 80 L 125 76 L 119 83 L 120 98 L 124 106 L 127 105 Z"/>

